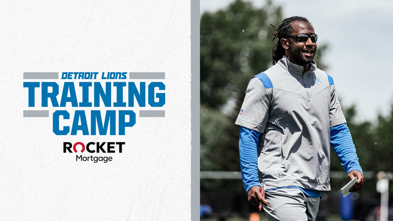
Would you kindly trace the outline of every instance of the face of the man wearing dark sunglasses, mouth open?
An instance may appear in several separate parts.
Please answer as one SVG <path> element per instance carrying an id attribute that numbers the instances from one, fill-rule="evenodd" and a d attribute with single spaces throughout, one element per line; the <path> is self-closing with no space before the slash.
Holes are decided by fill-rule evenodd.
<path id="1" fill-rule="evenodd" d="M 292 22 L 293 31 L 290 35 L 315 34 L 314 28 L 309 22 Z M 317 43 L 307 39 L 306 42 L 298 42 L 295 37 L 288 37 L 288 59 L 294 64 L 305 66 L 312 62 L 317 51 Z"/>

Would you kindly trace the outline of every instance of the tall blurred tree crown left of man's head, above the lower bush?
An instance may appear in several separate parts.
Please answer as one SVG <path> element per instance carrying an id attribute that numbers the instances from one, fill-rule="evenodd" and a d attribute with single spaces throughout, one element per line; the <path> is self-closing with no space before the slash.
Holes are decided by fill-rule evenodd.
<path id="1" fill-rule="evenodd" d="M 281 8 L 268 3 L 255 9 L 237 0 L 227 9 L 204 13 L 200 20 L 201 103 L 220 109 L 244 93 L 248 79 L 272 62 L 274 29 Z"/>

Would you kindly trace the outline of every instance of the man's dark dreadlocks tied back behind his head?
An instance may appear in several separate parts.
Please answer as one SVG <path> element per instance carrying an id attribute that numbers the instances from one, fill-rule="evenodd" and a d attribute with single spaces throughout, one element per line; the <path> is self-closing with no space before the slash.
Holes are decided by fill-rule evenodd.
<path id="1" fill-rule="evenodd" d="M 310 23 L 309 20 L 307 20 L 307 18 L 294 16 L 290 18 L 285 18 L 277 29 L 275 29 L 275 27 L 272 24 L 270 24 L 271 26 L 273 26 L 274 30 L 277 31 L 277 33 L 273 34 L 274 38 L 272 41 L 274 41 L 274 39 L 276 38 L 278 39 L 277 43 L 275 43 L 272 49 L 273 65 L 277 63 L 277 61 L 279 61 L 285 55 L 285 50 L 281 45 L 281 39 L 288 37 L 292 33 L 292 31 L 294 30 L 292 27 L 292 22 L 294 21 Z"/>

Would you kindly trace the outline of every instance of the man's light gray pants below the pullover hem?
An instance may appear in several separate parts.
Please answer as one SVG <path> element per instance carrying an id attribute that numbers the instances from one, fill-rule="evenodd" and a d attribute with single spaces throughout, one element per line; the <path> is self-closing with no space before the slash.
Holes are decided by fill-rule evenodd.
<path id="1" fill-rule="evenodd" d="M 265 192 L 269 206 L 263 209 L 269 221 L 314 221 L 320 197 L 309 197 L 298 188 L 281 188 Z"/>

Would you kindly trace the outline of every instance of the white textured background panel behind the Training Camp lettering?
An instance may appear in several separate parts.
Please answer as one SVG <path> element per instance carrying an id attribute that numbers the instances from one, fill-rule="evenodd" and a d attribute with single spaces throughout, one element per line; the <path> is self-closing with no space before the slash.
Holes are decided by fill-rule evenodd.
<path id="1" fill-rule="evenodd" d="M 171 0 L 0 3 L 0 220 L 190 219 L 190 10 L 189 1 Z M 165 105 L 45 108 L 36 89 L 36 107 L 28 107 L 24 81 L 55 81 L 61 91 L 65 80 L 24 80 L 23 72 L 165 72 L 160 80 L 119 80 L 162 81 Z M 78 83 L 88 80 L 73 81 L 81 99 Z M 93 109 L 133 110 L 136 124 L 124 136 L 58 136 L 52 114 L 62 109 L 71 115 L 62 125 L 72 124 L 74 110 L 89 119 Z M 23 110 L 50 117 L 24 118 Z M 139 110 L 165 117 L 140 118 Z M 63 142 L 126 144 L 123 153 L 82 153 L 113 157 L 94 163 L 63 153 Z"/>

